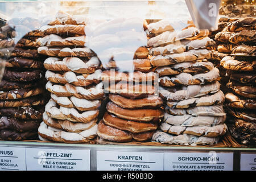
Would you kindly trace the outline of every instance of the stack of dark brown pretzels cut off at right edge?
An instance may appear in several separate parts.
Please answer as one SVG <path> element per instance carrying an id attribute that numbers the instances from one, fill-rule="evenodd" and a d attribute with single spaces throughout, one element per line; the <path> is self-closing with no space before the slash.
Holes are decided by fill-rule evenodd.
<path id="1" fill-rule="evenodd" d="M 255 145 L 256 18 L 230 22 L 216 39 L 222 42 L 218 52 L 226 53 L 220 65 L 229 77 L 225 98 L 230 133 L 243 144 Z"/>

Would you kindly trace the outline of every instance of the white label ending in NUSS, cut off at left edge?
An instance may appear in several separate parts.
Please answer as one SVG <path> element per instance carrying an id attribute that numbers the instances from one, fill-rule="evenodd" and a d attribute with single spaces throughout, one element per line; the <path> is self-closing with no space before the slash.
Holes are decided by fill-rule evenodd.
<path id="1" fill-rule="evenodd" d="M 26 171 L 26 148 L 0 147 L 0 171 Z"/>

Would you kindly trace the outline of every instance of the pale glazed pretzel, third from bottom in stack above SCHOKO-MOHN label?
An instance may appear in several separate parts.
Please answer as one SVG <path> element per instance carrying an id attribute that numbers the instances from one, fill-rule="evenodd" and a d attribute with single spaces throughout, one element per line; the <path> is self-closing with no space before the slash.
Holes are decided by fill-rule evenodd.
<path id="1" fill-rule="evenodd" d="M 215 126 L 221 125 L 226 120 L 226 115 L 210 116 L 210 115 L 172 115 L 164 113 L 163 121 L 170 125 L 179 126 Z"/>

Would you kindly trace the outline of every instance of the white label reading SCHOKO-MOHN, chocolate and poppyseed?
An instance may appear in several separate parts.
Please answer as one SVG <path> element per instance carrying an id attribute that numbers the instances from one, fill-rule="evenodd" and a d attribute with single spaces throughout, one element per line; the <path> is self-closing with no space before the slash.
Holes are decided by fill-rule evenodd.
<path id="1" fill-rule="evenodd" d="M 166 152 L 166 171 L 232 171 L 233 153 L 210 152 Z"/>

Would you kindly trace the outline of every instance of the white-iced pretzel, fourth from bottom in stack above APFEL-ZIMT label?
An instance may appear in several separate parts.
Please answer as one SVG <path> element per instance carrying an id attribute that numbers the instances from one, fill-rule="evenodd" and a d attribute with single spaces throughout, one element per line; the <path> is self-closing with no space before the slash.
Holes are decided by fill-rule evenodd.
<path id="1" fill-rule="evenodd" d="M 58 97 L 55 94 L 51 94 L 51 98 L 58 105 L 68 108 L 76 108 L 80 111 L 96 110 L 101 106 L 101 101 L 98 100 L 86 100 L 81 98 L 72 97 Z"/>

